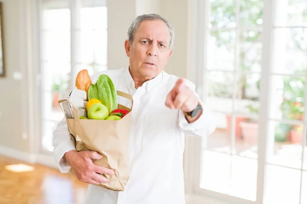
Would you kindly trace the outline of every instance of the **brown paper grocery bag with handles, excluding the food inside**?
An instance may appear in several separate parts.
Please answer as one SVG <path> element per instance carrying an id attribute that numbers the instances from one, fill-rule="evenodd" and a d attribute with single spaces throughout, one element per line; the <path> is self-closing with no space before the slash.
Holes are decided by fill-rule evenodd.
<path id="1" fill-rule="evenodd" d="M 117 91 L 118 96 L 131 100 L 131 107 L 118 104 L 119 109 L 129 111 L 121 120 L 79 119 L 78 110 L 73 107 L 74 119 L 68 119 L 69 132 L 75 138 L 77 151 L 93 150 L 102 155 L 102 159 L 94 163 L 114 170 L 115 175 L 102 174 L 111 183 L 99 186 L 115 191 L 123 191 L 129 179 L 129 135 L 133 98 L 131 95 Z M 59 100 L 62 103 L 65 100 Z M 74 174 L 73 170 L 71 173 Z"/>

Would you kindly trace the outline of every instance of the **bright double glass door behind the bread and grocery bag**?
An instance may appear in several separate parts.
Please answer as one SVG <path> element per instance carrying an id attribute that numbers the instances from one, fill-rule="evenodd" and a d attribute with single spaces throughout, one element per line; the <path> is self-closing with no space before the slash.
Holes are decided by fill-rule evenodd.
<path id="1" fill-rule="evenodd" d="M 104 1 L 40 2 L 41 145 L 52 151 L 52 132 L 63 118 L 58 100 L 75 86 L 81 69 L 107 69 L 107 9 Z"/>

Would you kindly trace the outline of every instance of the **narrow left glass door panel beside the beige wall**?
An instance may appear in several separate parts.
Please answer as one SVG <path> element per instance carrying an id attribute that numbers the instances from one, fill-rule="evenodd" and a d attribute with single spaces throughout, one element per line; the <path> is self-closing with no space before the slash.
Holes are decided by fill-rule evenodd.
<path id="1" fill-rule="evenodd" d="M 41 3 L 41 148 L 52 151 L 52 131 L 63 118 L 57 101 L 71 83 L 71 10 L 69 1 Z"/>

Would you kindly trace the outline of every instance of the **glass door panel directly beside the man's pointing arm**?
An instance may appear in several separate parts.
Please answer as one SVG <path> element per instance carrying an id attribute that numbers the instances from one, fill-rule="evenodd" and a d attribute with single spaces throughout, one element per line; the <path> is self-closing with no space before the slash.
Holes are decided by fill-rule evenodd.
<path id="1" fill-rule="evenodd" d="M 216 131 L 202 140 L 200 188 L 256 200 L 264 1 L 208 1 L 204 100 Z"/>

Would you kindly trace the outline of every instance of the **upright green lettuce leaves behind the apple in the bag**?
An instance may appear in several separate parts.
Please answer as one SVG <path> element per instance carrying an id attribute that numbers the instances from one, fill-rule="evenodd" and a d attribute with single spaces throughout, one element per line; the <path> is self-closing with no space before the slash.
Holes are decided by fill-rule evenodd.
<path id="1" fill-rule="evenodd" d="M 88 91 L 89 100 L 96 98 L 106 106 L 109 113 L 117 109 L 117 91 L 112 80 L 105 74 L 101 74 L 95 84 Z"/>

